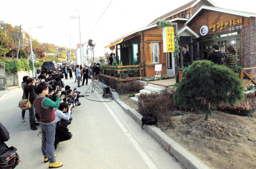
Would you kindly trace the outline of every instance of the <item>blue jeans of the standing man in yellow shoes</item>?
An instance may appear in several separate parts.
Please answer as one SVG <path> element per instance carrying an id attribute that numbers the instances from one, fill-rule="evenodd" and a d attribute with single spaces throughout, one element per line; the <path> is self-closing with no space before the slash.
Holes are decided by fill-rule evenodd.
<path id="1" fill-rule="evenodd" d="M 54 157 L 54 142 L 55 142 L 55 124 L 42 124 L 40 122 L 42 129 L 42 153 L 44 158 L 48 158 L 50 163 L 55 163 L 56 159 Z"/>

